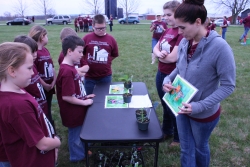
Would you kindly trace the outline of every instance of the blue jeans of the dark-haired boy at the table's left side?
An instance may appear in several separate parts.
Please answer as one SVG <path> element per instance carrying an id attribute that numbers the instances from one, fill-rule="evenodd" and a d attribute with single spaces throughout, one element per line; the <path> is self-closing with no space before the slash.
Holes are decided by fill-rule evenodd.
<path id="1" fill-rule="evenodd" d="M 85 158 L 85 145 L 80 139 L 82 126 L 68 128 L 69 160 L 71 162 L 81 161 Z"/>

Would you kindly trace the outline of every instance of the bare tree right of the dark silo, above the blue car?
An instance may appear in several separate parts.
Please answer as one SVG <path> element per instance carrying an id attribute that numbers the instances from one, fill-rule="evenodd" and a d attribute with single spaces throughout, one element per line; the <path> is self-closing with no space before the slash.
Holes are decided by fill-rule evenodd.
<path id="1" fill-rule="evenodd" d="M 126 22 L 128 23 L 128 16 L 139 9 L 140 0 L 118 0 L 118 4 L 125 10 Z"/>

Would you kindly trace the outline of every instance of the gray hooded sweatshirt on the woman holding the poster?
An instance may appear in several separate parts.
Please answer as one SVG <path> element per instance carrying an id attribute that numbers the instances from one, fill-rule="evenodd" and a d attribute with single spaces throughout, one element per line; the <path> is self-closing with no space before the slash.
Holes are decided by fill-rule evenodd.
<path id="1" fill-rule="evenodd" d="M 204 119 L 215 114 L 220 101 L 235 88 L 236 67 L 231 47 L 216 31 L 199 42 L 193 57 L 187 62 L 188 40 L 183 38 L 178 48 L 176 68 L 165 77 L 163 84 L 172 82 L 177 74 L 199 91 L 190 104 L 189 116 Z"/>

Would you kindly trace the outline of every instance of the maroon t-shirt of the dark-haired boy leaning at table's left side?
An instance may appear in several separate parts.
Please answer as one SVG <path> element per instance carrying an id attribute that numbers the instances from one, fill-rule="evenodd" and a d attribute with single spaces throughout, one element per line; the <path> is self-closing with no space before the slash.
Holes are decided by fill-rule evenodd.
<path id="1" fill-rule="evenodd" d="M 62 96 L 74 96 L 83 99 L 86 95 L 81 77 L 74 66 L 61 64 L 56 80 L 57 100 L 62 124 L 66 127 L 77 127 L 83 124 L 87 107 L 68 103 Z"/>

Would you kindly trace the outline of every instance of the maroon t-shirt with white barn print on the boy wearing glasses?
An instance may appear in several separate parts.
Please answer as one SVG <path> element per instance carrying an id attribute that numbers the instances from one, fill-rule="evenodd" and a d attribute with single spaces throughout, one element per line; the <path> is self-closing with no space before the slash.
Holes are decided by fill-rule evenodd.
<path id="1" fill-rule="evenodd" d="M 83 37 L 84 60 L 89 65 L 86 78 L 99 79 L 112 74 L 112 60 L 118 57 L 116 40 L 109 34 L 97 36 L 95 33 Z"/>

